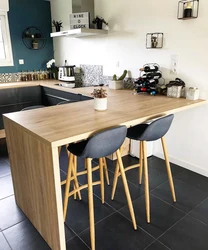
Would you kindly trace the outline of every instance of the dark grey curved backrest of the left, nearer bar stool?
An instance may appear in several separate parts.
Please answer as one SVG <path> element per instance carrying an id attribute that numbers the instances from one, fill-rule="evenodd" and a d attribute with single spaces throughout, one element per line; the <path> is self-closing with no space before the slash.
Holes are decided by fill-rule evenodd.
<path id="1" fill-rule="evenodd" d="M 126 138 L 126 126 L 119 126 L 93 135 L 83 153 L 84 158 L 101 158 L 113 154 Z"/>

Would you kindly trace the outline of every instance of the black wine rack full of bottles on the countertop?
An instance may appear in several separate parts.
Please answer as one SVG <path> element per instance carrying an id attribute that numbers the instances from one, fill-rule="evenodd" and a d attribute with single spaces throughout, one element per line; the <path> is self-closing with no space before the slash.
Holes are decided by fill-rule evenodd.
<path id="1" fill-rule="evenodd" d="M 137 93 L 149 93 L 155 95 L 159 79 L 162 78 L 160 66 L 156 63 L 148 63 L 140 69 L 140 77 L 135 81 L 135 89 Z"/>

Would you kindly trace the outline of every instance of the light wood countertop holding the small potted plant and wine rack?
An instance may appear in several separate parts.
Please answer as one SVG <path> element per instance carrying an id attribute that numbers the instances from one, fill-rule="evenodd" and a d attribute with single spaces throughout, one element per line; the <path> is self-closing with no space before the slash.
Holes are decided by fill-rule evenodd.
<path id="1" fill-rule="evenodd" d="M 90 96 L 94 87 L 64 88 L 56 86 L 56 81 L 42 81 L 41 86 L 52 87 L 71 93 Z M 34 137 L 44 140 L 52 147 L 89 137 L 96 131 L 117 125 L 127 127 L 150 118 L 176 113 L 206 104 L 205 100 L 190 101 L 166 96 L 133 95 L 130 90 L 110 90 L 108 109 L 94 110 L 94 100 L 51 106 L 43 109 L 5 114 Z"/>

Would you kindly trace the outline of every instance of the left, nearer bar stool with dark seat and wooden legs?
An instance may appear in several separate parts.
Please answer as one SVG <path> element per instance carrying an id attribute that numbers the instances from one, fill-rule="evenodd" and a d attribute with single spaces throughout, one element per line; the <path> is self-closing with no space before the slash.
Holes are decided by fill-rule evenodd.
<path id="1" fill-rule="evenodd" d="M 95 250 L 93 186 L 100 184 L 102 203 L 104 203 L 103 157 L 113 154 L 114 152 L 116 152 L 116 155 L 118 158 L 118 168 L 121 173 L 122 180 L 123 180 L 124 190 L 126 193 L 126 198 L 127 198 L 133 226 L 135 230 L 137 229 L 132 200 L 131 200 L 131 196 L 130 196 L 130 192 L 129 192 L 129 188 L 128 188 L 128 184 L 126 180 L 126 175 L 124 172 L 120 150 L 119 150 L 119 148 L 121 147 L 121 145 L 123 144 L 125 140 L 126 133 L 127 133 L 126 126 L 119 126 L 119 127 L 111 128 L 109 130 L 96 133 L 88 140 L 70 144 L 68 146 L 68 150 L 71 154 L 70 154 L 69 169 L 67 173 L 66 189 L 65 189 L 65 196 L 64 196 L 64 221 L 66 219 L 69 197 L 84 188 L 88 188 L 90 239 L 91 239 L 92 250 Z M 74 171 L 73 169 L 75 169 L 73 168 L 73 158 L 74 158 L 73 155 L 86 159 L 85 162 L 86 162 L 87 170 L 75 173 L 75 175 L 79 176 L 83 173 L 87 173 L 88 184 L 82 185 L 78 188 L 75 186 L 74 190 L 70 192 L 70 182 L 73 179 L 71 177 L 71 174 L 72 174 L 72 171 Z M 92 159 L 93 158 L 99 159 L 100 181 L 97 181 L 97 182 L 92 182 Z"/>

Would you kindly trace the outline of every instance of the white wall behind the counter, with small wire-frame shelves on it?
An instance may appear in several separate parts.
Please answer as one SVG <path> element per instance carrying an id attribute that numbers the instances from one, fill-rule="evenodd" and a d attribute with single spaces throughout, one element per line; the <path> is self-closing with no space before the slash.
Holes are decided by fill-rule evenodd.
<path id="1" fill-rule="evenodd" d="M 55 11 L 54 18 L 69 25 L 69 8 Z M 55 58 L 59 64 L 67 59 L 71 64 L 101 64 L 104 74 L 112 75 L 128 69 L 138 77 L 139 68 L 147 62 L 161 65 L 167 79 L 182 78 L 187 86 L 201 89 L 201 97 L 208 97 L 208 1 L 200 0 L 199 17 L 177 20 L 178 0 L 95 0 L 95 13 L 109 22 L 109 35 L 96 38 L 57 38 Z M 66 28 L 65 27 L 65 28 Z M 146 33 L 163 32 L 164 48 L 147 50 Z M 171 55 L 179 56 L 179 73 L 170 75 Z M 120 68 L 116 68 L 119 61 Z M 165 105 L 165 103 L 164 103 Z M 207 105 L 177 114 L 167 143 L 171 160 L 208 176 L 206 148 L 208 145 Z M 154 154 L 161 148 L 155 143 Z"/>

